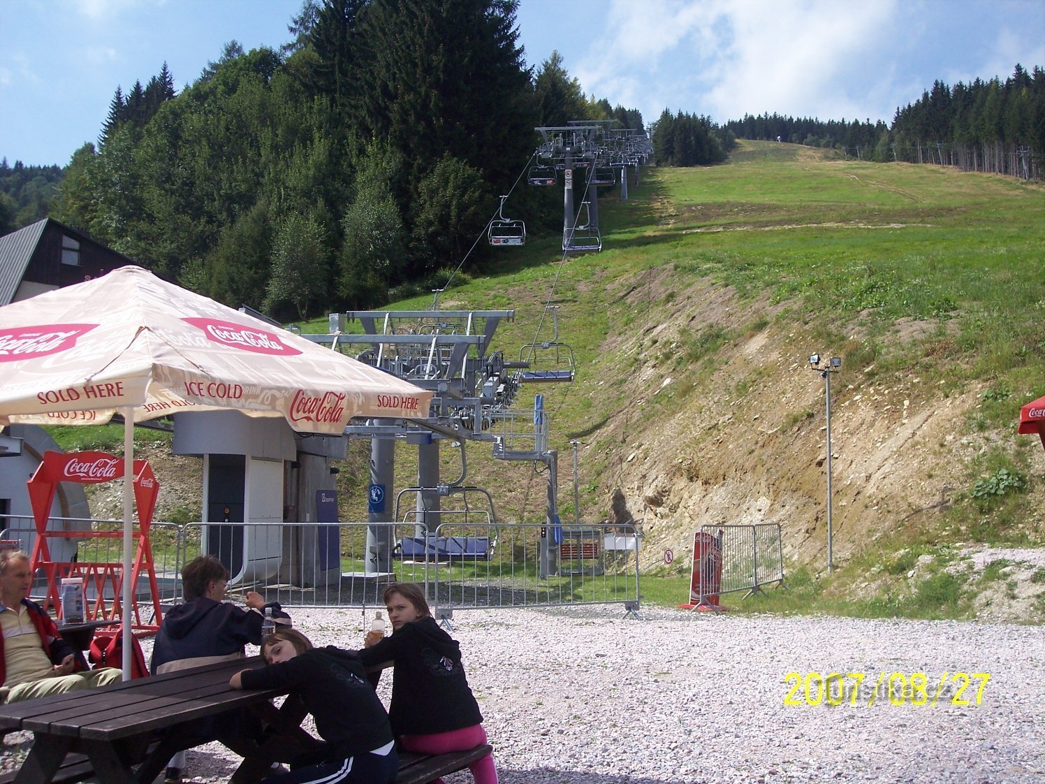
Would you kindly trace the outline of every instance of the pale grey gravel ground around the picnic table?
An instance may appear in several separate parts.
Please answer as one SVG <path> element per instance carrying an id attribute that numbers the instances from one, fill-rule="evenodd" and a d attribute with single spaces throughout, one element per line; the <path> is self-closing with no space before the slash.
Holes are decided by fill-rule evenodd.
<path id="1" fill-rule="evenodd" d="M 461 612 L 468 678 L 503 784 L 1041 782 L 1045 628 L 938 621 L 742 617 L 617 606 Z M 358 610 L 298 609 L 314 642 L 354 647 Z M 842 705 L 806 704 L 810 672 L 846 678 Z M 880 673 L 925 673 L 889 699 Z M 936 704 L 937 684 L 948 673 Z M 990 673 L 953 705 L 955 672 Z M 381 695 L 388 699 L 388 677 Z M 811 695 L 816 700 L 817 683 Z M 837 687 L 833 687 L 837 694 Z M 909 690 L 909 687 L 908 687 Z M 872 695 L 875 695 L 872 705 Z M 851 705 L 855 699 L 856 705 Z M 837 701 L 837 700 L 836 700 Z M 902 705 L 893 705 L 902 702 Z M 24 734 L 5 741 L 24 750 Z M 217 744 L 189 753 L 187 781 L 227 781 Z M 471 782 L 467 774 L 446 784 Z"/>

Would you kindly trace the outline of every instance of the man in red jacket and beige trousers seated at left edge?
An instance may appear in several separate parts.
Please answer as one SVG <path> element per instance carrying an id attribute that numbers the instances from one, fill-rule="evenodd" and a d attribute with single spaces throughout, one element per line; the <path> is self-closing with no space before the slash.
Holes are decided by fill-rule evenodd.
<path id="1" fill-rule="evenodd" d="M 29 556 L 0 553 L 0 704 L 118 682 L 118 669 L 87 669 L 47 612 L 29 600 L 31 589 Z"/>

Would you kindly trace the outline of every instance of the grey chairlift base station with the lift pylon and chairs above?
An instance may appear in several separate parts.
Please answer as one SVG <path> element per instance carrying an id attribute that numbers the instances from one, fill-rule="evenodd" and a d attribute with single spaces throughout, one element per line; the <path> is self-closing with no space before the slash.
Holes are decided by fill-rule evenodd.
<path id="1" fill-rule="evenodd" d="M 645 133 L 610 125 L 607 120 L 536 129 L 542 141 L 525 174 L 531 185 L 563 185 L 563 259 L 601 250 L 599 187 L 619 181 L 626 199 L 629 180 L 637 183 L 640 165 L 652 151 Z M 491 246 L 526 243 L 524 222 L 505 215 L 507 200 L 500 198 L 487 225 Z M 468 484 L 468 442 L 489 443 L 496 460 L 543 464 L 545 523 L 557 524 L 558 454 L 549 443 L 543 393 L 534 395 L 532 406 L 520 405 L 519 393 L 525 386 L 544 389 L 576 377 L 573 349 L 560 337 L 558 307 L 545 307 L 534 340 L 516 353 L 493 349 L 497 327 L 513 321 L 514 310 L 443 310 L 437 304 L 438 294 L 429 310 L 332 314 L 327 335 L 302 336 L 432 390 L 427 418 L 353 420 L 344 437 L 303 437 L 279 420 L 249 420 L 235 412 L 176 415 L 176 454 L 204 460 L 202 535 L 211 552 L 231 553 L 227 566 L 234 581 L 263 580 L 288 568 L 314 584 L 340 576 L 335 544 L 324 540 L 330 527 L 323 525 L 336 522 L 336 505 L 331 508 L 321 500 L 334 497 L 338 469 L 331 462 L 347 457 L 349 439 L 367 439 L 371 449 L 367 523 L 372 525 L 365 577 L 391 573 L 396 548 L 427 552 L 427 537 L 444 518 L 447 504 L 464 506 L 469 514 L 496 525 L 491 493 Z M 348 333 L 352 322 L 362 326 L 362 333 Z M 397 490 L 395 448 L 400 442 L 417 449 L 418 468 L 416 484 Z M 444 447 L 460 456 L 455 477 L 440 475 Z M 294 547 L 272 534 L 280 526 L 268 525 L 285 520 L 306 524 L 294 528 L 293 535 L 301 539 Z M 390 523 L 413 525 L 416 536 L 394 541 Z M 318 559 L 286 562 L 287 552 L 315 550 L 321 553 Z M 554 546 L 544 539 L 539 564 L 541 574 L 557 569 Z"/>

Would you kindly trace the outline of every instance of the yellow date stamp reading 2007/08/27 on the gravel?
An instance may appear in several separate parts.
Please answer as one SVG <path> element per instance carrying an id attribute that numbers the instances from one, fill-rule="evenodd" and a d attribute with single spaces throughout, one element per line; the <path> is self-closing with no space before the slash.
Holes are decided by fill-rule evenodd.
<path id="1" fill-rule="evenodd" d="M 789 685 L 784 695 L 786 706 L 866 706 L 892 705 L 932 708 L 939 706 L 978 706 L 991 679 L 986 672 L 945 670 L 930 678 L 924 672 L 788 672 Z"/>

